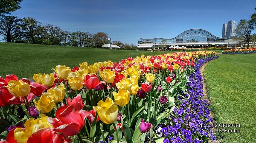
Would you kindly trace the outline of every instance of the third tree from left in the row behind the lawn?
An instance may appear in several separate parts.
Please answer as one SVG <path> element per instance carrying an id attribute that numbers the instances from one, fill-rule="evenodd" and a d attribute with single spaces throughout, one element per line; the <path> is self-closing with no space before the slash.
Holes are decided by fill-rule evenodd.
<path id="1" fill-rule="evenodd" d="M 47 38 L 52 42 L 52 45 L 61 45 L 61 28 L 51 24 L 46 24 L 44 28 L 47 32 Z"/>

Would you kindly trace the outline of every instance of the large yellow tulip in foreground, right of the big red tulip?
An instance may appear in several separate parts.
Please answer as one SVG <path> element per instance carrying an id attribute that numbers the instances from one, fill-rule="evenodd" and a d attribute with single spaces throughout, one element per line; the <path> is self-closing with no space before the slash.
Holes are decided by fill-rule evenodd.
<path id="1" fill-rule="evenodd" d="M 106 124 L 114 123 L 118 115 L 118 106 L 113 102 L 111 98 L 107 98 L 104 101 L 99 101 L 98 106 L 94 106 L 99 115 L 99 119 Z"/>

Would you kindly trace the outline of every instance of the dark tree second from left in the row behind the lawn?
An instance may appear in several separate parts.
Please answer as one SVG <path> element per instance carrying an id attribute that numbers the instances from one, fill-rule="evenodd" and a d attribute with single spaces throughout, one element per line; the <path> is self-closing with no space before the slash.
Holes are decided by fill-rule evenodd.
<path id="1" fill-rule="evenodd" d="M 37 20 L 35 20 L 34 18 L 31 17 L 27 17 L 27 18 L 23 18 L 23 20 L 21 21 L 21 27 L 23 29 L 23 33 L 24 33 L 24 37 L 25 39 L 32 44 L 38 44 L 37 43 L 37 39 L 38 36 L 43 36 L 44 32 L 46 32 L 44 30 L 44 28 L 41 26 L 41 22 L 38 22 Z"/>

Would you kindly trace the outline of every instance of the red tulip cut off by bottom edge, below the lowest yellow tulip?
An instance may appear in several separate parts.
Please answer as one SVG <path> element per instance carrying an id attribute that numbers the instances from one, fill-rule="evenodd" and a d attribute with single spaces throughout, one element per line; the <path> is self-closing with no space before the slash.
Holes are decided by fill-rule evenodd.
<path id="1" fill-rule="evenodd" d="M 71 137 L 66 139 L 63 134 L 58 134 L 50 128 L 39 129 L 28 139 L 27 143 L 71 143 Z"/>

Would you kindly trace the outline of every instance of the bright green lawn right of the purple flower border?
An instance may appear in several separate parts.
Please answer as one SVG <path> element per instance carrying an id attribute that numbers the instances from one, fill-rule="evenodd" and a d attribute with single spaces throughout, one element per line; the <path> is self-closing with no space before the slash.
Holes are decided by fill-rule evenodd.
<path id="1" fill-rule="evenodd" d="M 204 70 L 215 123 L 241 123 L 221 143 L 256 143 L 256 54 L 218 55 Z"/>

